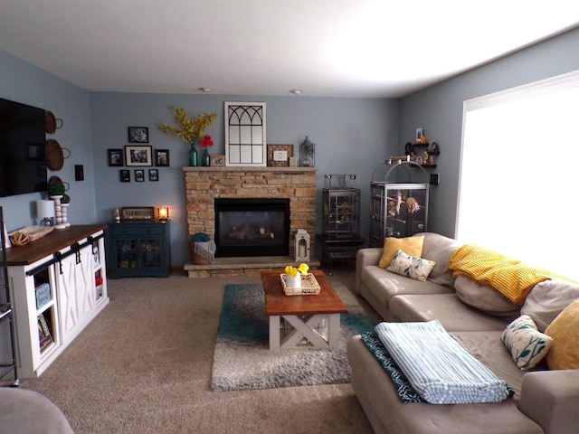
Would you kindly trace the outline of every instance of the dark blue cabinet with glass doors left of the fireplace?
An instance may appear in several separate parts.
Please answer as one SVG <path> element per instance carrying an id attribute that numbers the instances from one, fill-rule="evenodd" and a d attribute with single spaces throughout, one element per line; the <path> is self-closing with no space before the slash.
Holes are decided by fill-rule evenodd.
<path id="1" fill-rule="evenodd" d="M 171 274 L 168 221 L 109 223 L 109 278 L 157 277 Z"/>

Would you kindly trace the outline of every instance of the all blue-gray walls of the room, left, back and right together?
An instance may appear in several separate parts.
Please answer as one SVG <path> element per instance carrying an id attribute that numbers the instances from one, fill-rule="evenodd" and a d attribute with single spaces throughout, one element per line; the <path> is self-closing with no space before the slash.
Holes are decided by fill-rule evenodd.
<path id="1" fill-rule="evenodd" d="M 441 184 L 431 189 L 429 230 L 452 236 L 463 101 L 577 70 L 578 44 L 579 30 L 574 30 L 400 100 L 90 93 L 0 52 L 0 97 L 50 109 L 64 119 L 64 127 L 54 137 L 71 149 L 72 156 L 65 160 L 63 170 L 53 175 L 71 184 L 72 223 L 109 222 L 112 210 L 122 206 L 166 204 L 172 214 L 173 265 L 180 266 L 187 258 L 182 171 L 187 146 L 157 131 L 158 121 L 173 121 L 169 106 L 184 107 L 192 116 L 202 111 L 218 112 L 220 117 L 207 134 L 214 137 L 211 153 L 224 154 L 223 101 L 265 101 L 269 143 L 293 144 L 297 151 L 308 136 L 317 144 L 318 188 L 324 186 L 325 174 L 357 175 L 365 237 L 374 169 L 388 156 L 403 154 L 415 128 L 422 127 L 429 140 L 441 146 L 438 167 L 430 169 L 441 174 Z M 135 183 L 133 173 L 133 182 L 121 184 L 119 168 L 108 166 L 107 149 L 128 144 L 128 126 L 149 127 L 150 145 L 170 150 L 171 166 L 159 168 L 159 182 L 151 183 L 147 178 L 144 183 Z M 80 164 L 84 165 L 85 181 L 75 182 L 73 167 Z M 491 167 L 489 174 L 497 175 L 492 174 Z M 7 229 L 33 224 L 33 203 L 40 198 L 40 193 L 1 198 Z"/>

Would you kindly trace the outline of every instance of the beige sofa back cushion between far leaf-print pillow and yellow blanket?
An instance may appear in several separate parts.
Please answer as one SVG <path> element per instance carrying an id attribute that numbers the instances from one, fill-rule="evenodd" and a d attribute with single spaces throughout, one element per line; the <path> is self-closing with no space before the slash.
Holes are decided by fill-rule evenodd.
<path id="1" fill-rule="evenodd" d="M 417 235 L 414 235 L 417 236 Z M 431 271 L 429 280 L 439 285 L 452 288 L 454 278 L 452 270 L 448 269 L 449 260 L 452 253 L 457 250 L 460 244 L 451 238 L 439 233 L 424 232 L 424 243 L 422 244 L 422 258 L 433 260 L 436 265 Z"/>

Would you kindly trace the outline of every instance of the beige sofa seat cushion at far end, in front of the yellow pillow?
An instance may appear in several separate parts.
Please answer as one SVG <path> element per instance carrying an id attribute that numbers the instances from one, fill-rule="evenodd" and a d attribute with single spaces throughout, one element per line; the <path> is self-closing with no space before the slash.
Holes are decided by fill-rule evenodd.
<path id="1" fill-rule="evenodd" d="M 449 288 L 441 287 L 430 280 L 421 282 L 413 278 L 406 278 L 370 265 L 362 269 L 361 280 L 363 287 L 367 288 L 380 302 L 381 306 L 388 307 L 392 297 L 398 294 L 445 294 L 451 293 Z"/>

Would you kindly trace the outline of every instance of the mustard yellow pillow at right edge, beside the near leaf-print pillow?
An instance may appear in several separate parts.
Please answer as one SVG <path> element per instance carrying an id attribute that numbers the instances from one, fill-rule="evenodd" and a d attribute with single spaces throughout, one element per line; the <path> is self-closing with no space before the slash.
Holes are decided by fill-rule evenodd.
<path id="1" fill-rule="evenodd" d="M 565 307 L 545 334 L 553 338 L 545 358 L 549 369 L 579 369 L 579 300 Z"/>

